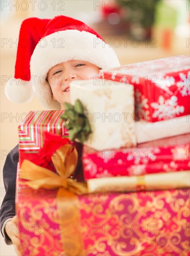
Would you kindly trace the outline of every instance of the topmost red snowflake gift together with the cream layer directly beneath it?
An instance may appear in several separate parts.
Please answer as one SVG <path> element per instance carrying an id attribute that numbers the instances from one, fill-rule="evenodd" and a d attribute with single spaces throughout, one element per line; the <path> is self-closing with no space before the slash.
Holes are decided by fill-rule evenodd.
<path id="1" fill-rule="evenodd" d="M 101 75 L 118 85 L 133 84 L 137 143 L 190 131 L 190 57 L 134 63 Z"/>

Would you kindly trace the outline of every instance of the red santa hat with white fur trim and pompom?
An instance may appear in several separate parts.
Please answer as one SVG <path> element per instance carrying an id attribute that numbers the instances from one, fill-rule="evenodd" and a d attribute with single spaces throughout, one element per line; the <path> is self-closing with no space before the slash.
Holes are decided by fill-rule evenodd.
<path id="1" fill-rule="evenodd" d="M 70 60 L 88 61 L 102 69 L 120 66 L 114 50 L 79 20 L 67 16 L 24 20 L 14 79 L 6 83 L 7 98 L 15 103 L 28 102 L 34 91 L 44 108 L 60 109 L 46 77 L 51 67 Z"/>

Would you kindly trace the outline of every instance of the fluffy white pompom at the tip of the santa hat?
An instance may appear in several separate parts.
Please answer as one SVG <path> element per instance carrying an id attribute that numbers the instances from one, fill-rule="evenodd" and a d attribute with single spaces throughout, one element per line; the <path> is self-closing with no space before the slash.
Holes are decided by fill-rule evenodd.
<path id="1" fill-rule="evenodd" d="M 32 84 L 30 81 L 10 79 L 6 82 L 5 94 L 14 103 L 29 102 L 33 97 Z"/>

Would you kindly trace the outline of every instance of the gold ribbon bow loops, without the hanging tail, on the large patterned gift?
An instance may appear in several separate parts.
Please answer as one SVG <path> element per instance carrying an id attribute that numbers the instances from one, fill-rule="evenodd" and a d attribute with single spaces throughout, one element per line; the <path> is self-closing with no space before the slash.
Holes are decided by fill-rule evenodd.
<path id="1" fill-rule="evenodd" d="M 65 144 L 56 150 L 51 156 L 51 160 L 58 175 L 29 160 L 24 160 L 21 166 L 20 178 L 29 180 L 29 182 L 25 183 L 28 186 L 36 187 L 37 189 L 55 189 L 62 187 L 77 195 L 83 195 L 88 192 L 85 183 L 76 182 L 69 178 L 74 172 L 78 161 L 76 148 L 72 148 L 72 145 L 70 144 Z"/>

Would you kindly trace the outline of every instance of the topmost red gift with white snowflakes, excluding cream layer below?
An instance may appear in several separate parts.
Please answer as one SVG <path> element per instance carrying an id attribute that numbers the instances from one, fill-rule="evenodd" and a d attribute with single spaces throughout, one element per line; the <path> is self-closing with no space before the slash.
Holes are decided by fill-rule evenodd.
<path id="1" fill-rule="evenodd" d="M 102 78 L 133 84 L 136 120 L 190 114 L 190 57 L 179 55 L 101 71 Z"/>

